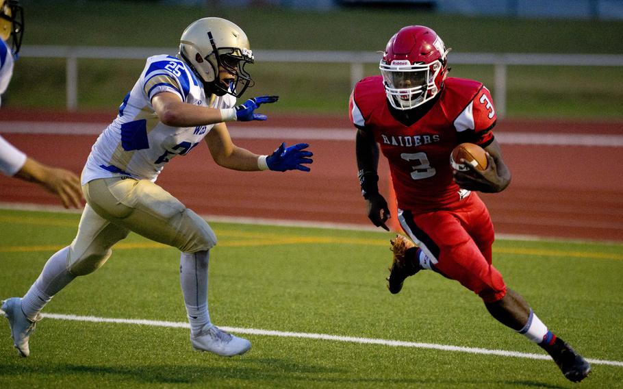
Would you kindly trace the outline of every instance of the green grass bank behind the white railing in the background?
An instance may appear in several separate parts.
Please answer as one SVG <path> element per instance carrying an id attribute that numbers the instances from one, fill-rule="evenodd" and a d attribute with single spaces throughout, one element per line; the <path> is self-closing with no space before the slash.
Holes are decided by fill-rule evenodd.
<path id="1" fill-rule="evenodd" d="M 222 2 L 225 3 L 225 2 Z M 623 53 L 623 22 L 494 18 L 412 10 L 342 9 L 331 12 L 256 7 L 183 7 L 151 1 L 25 0 L 24 45 L 129 46 L 175 49 L 183 29 L 203 16 L 238 23 L 257 49 L 382 50 L 405 25 L 433 27 L 455 53 Z M 154 52 L 158 54 L 160 52 Z M 256 86 L 246 97 L 281 99 L 271 112 L 346 115 L 348 64 L 285 64 L 257 58 Z M 492 89 L 493 66 L 452 63 L 450 75 L 479 79 Z M 573 65 L 573 64 L 570 64 Z M 64 109 L 64 60 L 21 58 L 3 95 L 10 108 Z M 79 110 L 114 112 L 144 66 L 139 60 L 79 60 Z M 377 75 L 370 64 L 365 75 Z M 623 118 L 623 71 L 615 67 L 510 66 L 507 116 Z"/>

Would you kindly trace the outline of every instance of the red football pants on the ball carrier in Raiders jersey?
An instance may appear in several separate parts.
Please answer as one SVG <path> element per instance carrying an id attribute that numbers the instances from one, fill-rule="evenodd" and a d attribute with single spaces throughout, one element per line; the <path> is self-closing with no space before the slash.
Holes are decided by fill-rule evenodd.
<path id="1" fill-rule="evenodd" d="M 429 256 L 436 271 L 459 281 L 485 303 L 502 299 L 506 285 L 491 264 L 493 223 L 483 201 L 472 193 L 456 210 L 414 213 L 398 210 L 405 232 Z"/>

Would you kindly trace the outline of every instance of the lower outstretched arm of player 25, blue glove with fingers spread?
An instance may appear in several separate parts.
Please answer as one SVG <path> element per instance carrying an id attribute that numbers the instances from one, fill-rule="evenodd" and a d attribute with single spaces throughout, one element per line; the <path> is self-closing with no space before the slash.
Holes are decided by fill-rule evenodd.
<path id="1" fill-rule="evenodd" d="M 225 123 L 215 125 L 205 136 L 205 143 L 212 158 L 219 165 L 237 171 L 309 171 L 313 153 L 305 150 L 307 143 L 285 147 L 285 143 L 271 155 L 257 155 L 231 142 Z"/>

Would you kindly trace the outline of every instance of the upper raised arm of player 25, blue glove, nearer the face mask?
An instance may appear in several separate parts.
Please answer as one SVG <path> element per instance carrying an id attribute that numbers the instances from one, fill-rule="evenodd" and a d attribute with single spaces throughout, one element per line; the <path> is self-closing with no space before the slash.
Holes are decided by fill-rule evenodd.
<path id="1" fill-rule="evenodd" d="M 171 127 L 194 127 L 228 121 L 265 121 L 266 116 L 255 114 L 259 105 L 275 103 L 277 96 L 259 96 L 235 108 L 208 108 L 181 101 L 173 92 L 160 92 L 151 99 L 151 105 L 160 121 Z"/>

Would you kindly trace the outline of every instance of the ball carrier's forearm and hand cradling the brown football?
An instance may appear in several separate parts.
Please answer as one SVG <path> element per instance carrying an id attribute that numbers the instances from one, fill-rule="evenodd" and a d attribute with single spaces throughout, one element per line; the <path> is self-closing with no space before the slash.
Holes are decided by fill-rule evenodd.
<path id="1" fill-rule="evenodd" d="M 485 147 L 487 151 L 487 168 L 479 171 L 470 164 L 465 172 L 454 172 L 454 180 L 458 186 L 468 190 L 479 190 L 485 193 L 497 193 L 505 190 L 511 183 L 511 171 L 504 163 L 502 150 L 497 140 Z"/>

